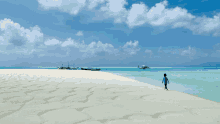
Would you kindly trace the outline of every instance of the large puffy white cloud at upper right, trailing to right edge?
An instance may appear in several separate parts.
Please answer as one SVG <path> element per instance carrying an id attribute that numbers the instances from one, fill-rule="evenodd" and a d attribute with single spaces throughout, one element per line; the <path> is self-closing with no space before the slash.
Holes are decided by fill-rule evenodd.
<path id="1" fill-rule="evenodd" d="M 127 16 L 127 25 L 131 28 L 149 24 L 152 26 L 169 26 L 187 28 L 194 34 L 213 34 L 220 36 L 220 14 L 213 18 L 196 17 L 184 8 L 167 8 L 168 1 L 163 1 L 148 8 L 147 5 L 133 4 Z"/>

